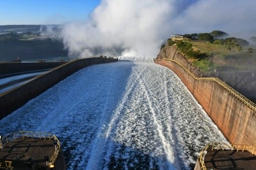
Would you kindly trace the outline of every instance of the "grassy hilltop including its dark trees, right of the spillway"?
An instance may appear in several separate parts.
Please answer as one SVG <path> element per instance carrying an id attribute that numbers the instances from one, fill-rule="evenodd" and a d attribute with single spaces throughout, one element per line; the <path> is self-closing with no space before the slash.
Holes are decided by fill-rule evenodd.
<path id="1" fill-rule="evenodd" d="M 225 38 L 227 35 L 220 30 L 211 33 L 185 34 L 184 36 L 190 40 L 168 39 L 168 45 L 175 45 L 186 59 L 204 73 L 255 69 L 255 47 L 241 38 Z"/>

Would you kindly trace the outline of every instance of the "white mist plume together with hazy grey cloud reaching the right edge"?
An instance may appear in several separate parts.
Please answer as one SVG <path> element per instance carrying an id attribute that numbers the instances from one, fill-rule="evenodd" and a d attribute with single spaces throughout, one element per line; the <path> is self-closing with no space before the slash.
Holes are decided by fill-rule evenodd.
<path id="1" fill-rule="evenodd" d="M 70 56 L 155 57 L 171 33 L 255 29 L 255 5 L 248 0 L 102 0 L 85 22 L 65 24 L 62 38 Z"/>

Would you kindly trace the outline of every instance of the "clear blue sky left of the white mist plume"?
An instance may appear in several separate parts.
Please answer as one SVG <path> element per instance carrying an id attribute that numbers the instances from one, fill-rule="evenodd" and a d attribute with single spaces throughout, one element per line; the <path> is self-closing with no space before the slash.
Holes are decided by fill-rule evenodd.
<path id="1" fill-rule="evenodd" d="M 0 0 L 0 25 L 86 20 L 100 0 Z"/>

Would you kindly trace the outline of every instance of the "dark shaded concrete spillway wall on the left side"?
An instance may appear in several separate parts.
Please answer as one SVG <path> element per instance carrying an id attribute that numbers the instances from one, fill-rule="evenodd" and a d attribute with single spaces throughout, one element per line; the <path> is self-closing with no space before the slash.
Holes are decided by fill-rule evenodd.
<path id="1" fill-rule="evenodd" d="M 115 61 L 117 59 L 110 58 L 73 60 L 52 69 L 46 74 L 37 76 L 24 85 L 0 94 L 0 120 L 76 71 L 93 64 Z"/>

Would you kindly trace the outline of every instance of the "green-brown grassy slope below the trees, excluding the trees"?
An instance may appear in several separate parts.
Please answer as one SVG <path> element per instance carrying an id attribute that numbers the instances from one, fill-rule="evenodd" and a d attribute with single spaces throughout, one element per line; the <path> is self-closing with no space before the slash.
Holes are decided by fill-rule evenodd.
<path id="1" fill-rule="evenodd" d="M 249 45 L 223 45 L 199 40 L 168 40 L 204 73 L 212 71 L 255 70 L 256 53 Z"/>

